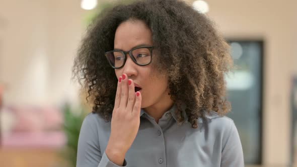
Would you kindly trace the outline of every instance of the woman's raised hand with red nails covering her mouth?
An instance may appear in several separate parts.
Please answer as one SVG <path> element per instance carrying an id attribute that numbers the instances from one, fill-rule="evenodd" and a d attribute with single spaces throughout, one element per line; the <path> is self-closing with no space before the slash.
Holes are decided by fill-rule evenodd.
<path id="1" fill-rule="evenodd" d="M 126 74 L 119 77 L 111 133 L 106 147 L 108 158 L 118 165 L 123 164 L 125 154 L 139 129 L 141 94 L 134 90 L 132 79 L 128 79 Z"/>

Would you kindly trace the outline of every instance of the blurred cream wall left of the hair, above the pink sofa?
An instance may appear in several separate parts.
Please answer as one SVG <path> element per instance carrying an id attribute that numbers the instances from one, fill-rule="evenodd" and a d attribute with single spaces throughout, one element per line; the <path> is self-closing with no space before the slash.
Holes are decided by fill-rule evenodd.
<path id="1" fill-rule="evenodd" d="M 6 104 L 78 101 L 77 88 L 69 78 L 85 28 L 79 2 L 1 2 L 0 82 L 7 87 Z"/>

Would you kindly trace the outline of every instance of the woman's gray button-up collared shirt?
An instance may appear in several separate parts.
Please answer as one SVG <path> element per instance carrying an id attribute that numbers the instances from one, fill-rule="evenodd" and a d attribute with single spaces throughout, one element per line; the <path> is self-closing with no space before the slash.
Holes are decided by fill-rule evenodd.
<path id="1" fill-rule="evenodd" d="M 177 124 L 175 108 L 174 105 L 164 113 L 158 124 L 141 109 L 139 130 L 126 153 L 124 166 L 244 166 L 242 145 L 232 119 L 211 112 L 206 121 L 199 118 L 198 128 L 194 129 L 187 119 L 182 125 Z M 78 143 L 77 167 L 118 166 L 105 153 L 110 125 L 98 114 L 86 116 Z"/>

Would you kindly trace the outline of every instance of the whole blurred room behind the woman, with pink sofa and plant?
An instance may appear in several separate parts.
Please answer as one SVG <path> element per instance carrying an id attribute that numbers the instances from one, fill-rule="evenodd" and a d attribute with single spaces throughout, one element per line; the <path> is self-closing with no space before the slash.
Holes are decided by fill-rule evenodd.
<path id="1" fill-rule="evenodd" d="M 1 166 L 75 166 L 91 110 L 70 79 L 73 58 L 92 18 L 114 2 L 0 0 Z M 228 116 L 246 166 L 297 166 L 297 1 L 186 2 L 232 47 Z"/>

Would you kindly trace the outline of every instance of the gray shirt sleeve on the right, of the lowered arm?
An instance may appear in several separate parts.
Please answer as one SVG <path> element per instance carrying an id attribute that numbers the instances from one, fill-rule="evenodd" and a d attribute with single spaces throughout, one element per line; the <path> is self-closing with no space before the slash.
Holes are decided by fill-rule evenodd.
<path id="1" fill-rule="evenodd" d="M 237 128 L 231 121 L 231 125 L 227 131 L 226 144 L 221 152 L 221 167 L 238 166 L 244 167 L 243 150 Z"/>

